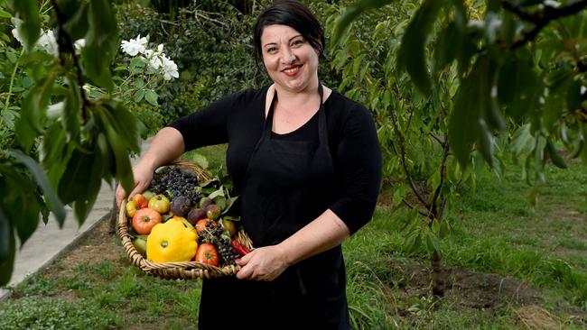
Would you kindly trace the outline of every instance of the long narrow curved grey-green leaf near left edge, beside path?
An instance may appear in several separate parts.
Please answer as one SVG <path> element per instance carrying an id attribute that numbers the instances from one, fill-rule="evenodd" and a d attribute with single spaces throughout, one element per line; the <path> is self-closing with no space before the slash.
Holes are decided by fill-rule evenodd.
<path id="1" fill-rule="evenodd" d="M 45 201 L 49 205 L 53 215 L 57 219 L 57 222 L 60 225 L 63 225 L 63 221 L 65 221 L 65 207 L 61 203 L 61 200 L 51 188 L 51 184 L 49 183 L 49 179 L 42 171 L 41 166 L 37 164 L 31 157 L 23 154 L 22 151 L 9 151 L 10 155 L 14 157 L 15 160 L 23 164 L 30 172 L 33 174 L 33 178 L 36 180 L 37 185 L 41 187 L 42 194 L 45 197 Z"/>

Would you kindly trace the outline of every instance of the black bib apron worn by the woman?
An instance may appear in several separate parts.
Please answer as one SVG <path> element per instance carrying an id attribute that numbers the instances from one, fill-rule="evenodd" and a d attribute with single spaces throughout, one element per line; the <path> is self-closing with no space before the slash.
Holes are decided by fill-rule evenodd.
<path id="1" fill-rule="evenodd" d="M 256 247 L 281 243 L 333 201 L 334 167 L 320 84 L 318 91 L 318 143 L 272 137 L 276 92 L 269 107 L 239 197 L 242 224 Z M 271 282 L 204 280 L 199 326 L 349 329 L 340 246 L 287 268 Z"/>

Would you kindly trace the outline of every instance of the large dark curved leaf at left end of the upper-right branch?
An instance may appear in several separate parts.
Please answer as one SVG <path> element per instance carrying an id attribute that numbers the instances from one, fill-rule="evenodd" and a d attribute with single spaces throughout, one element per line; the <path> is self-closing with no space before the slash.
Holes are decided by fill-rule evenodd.
<path id="1" fill-rule="evenodd" d="M 432 93 L 432 83 L 425 60 L 425 45 L 443 3 L 439 0 L 424 0 L 415 12 L 412 21 L 405 28 L 402 44 L 397 54 L 397 66 L 407 70 L 415 86 L 425 96 Z"/>

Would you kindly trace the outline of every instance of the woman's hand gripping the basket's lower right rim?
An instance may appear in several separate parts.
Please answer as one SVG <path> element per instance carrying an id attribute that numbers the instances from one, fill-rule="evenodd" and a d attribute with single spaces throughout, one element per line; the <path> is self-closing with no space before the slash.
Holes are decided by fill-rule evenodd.
<path id="1" fill-rule="evenodd" d="M 239 260 L 237 278 L 239 280 L 275 280 L 289 264 L 278 245 L 256 248 Z"/>

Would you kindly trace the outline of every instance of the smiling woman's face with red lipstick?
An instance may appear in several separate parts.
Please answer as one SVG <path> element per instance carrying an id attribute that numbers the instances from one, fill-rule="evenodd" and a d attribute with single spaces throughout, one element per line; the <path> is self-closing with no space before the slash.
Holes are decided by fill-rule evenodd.
<path id="1" fill-rule="evenodd" d="M 300 32 L 287 25 L 268 25 L 261 47 L 267 73 L 279 87 L 292 92 L 318 87 L 318 52 Z"/>

